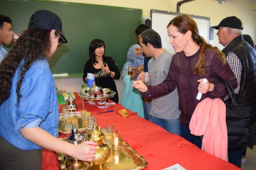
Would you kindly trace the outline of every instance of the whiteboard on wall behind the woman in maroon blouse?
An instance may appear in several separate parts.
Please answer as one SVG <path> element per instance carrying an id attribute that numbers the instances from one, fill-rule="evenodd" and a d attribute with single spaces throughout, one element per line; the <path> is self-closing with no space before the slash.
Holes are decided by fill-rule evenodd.
<path id="1" fill-rule="evenodd" d="M 172 54 L 174 54 L 175 52 L 174 49 L 172 48 L 172 45 L 169 44 L 170 38 L 168 37 L 167 33 L 167 25 L 170 22 L 170 20 L 181 14 L 182 13 L 177 12 L 150 10 L 151 28 L 154 29 L 160 35 L 162 40 L 162 47 Z M 210 18 L 195 15 L 189 16 L 191 16 L 196 21 L 196 24 L 198 25 L 199 34 L 202 37 L 204 37 L 206 42 L 209 43 Z"/>

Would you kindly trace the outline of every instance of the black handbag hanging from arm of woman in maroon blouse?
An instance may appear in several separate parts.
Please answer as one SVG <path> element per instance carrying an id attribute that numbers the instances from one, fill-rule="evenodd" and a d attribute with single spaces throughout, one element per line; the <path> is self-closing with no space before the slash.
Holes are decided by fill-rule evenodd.
<path id="1" fill-rule="evenodd" d="M 242 149 L 249 143 L 250 106 L 238 105 L 231 84 L 223 83 L 230 94 L 226 102 L 228 149 Z"/>

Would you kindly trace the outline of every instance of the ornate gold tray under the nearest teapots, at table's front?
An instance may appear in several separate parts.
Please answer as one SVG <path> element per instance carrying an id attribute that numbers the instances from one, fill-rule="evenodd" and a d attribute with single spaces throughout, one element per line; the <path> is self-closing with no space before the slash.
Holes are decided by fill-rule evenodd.
<path id="1" fill-rule="evenodd" d="M 68 137 L 61 138 L 66 140 Z M 60 169 L 68 170 L 65 166 L 67 156 L 58 153 L 58 160 L 60 161 Z M 88 163 L 88 162 L 87 162 Z M 93 170 L 141 170 L 148 165 L 145 158 L 140 156 L 128 143 L 120 138 L 120 150 L 111 150 L 111 155 L 105 162 L 103 168 L 93 168 Z M 84 170 L 87 170 L 86 168 Z M 90 170 L 92 170 L 90 168 Z"/>

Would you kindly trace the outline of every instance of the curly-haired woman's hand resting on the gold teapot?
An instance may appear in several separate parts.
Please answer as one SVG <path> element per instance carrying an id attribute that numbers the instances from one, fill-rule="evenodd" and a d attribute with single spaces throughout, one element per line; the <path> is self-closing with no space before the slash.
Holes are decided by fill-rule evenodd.
<path id="1" fill-rule="evenodd" d="M 75 145 L 74 157 L 83 161 L 92 161 L 96 154 L 96 143 L 92 141 L 86 141 Z"/>

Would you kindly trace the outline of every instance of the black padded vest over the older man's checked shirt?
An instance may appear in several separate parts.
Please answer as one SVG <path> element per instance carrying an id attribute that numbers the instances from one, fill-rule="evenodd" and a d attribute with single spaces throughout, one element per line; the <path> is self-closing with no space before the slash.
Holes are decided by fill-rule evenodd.
<path id="1" fill-rule="evenodd" d="M 242 35 L 234 38 L 222 52 L 227 56 L 230 51 L 238 55 L 242 64 L 240 90 L 236 94 L 238 104 L 250 106 L 250 125 L 256 122 L 256 51 Z"/>

